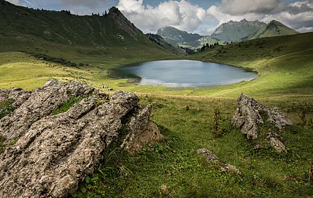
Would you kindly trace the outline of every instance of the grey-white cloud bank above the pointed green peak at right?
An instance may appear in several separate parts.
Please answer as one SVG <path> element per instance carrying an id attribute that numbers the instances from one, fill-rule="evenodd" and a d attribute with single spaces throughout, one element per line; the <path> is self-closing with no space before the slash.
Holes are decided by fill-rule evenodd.
<path id="1" fill-rule="evenodd" d="M 225 6 L 223 3 L 226 2 L 229 4 Z M 219 24 L 241 19 L 248 21 L 258 19 L 268 23 L 275 19 L 301 33 L 313 29 L 313 0 L 296 1 L 289 5 L 276 0 L 262 0 L 264 5 L 256 3 L 255 6 L 250 6 L 250 1 L 245 2 L 246 4 L 242 0 L 222 0 L 220 6 L 211 6 L 207 10 L 207 15 L 215 17 Z M 259 1 L 253 0 L 253 2 Z M 230 10 L 232 6 L 234 10 Z"/>

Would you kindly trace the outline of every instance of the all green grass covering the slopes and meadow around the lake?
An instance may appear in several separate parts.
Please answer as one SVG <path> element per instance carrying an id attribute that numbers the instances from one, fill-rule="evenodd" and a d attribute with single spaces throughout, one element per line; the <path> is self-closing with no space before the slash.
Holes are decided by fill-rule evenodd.
<path id="1" fill-rule="evenodd" d="M 102 85 L 136 92 L 141 105 L 153 104 L 152 120 L 166 135 L 158 145 L 147 145 L 135 156 L 111 145 L 99 169 L 86 176 L 72 197 L 313 196 L 308 179 L 309 161 L 313 160 L 313 33 L 235 42 L 193 56 L 176 56 L 130 22 L 136 38 L 129 34 L 133 31 L 116 28 L 110 15 L 118 10 L 81 17 L 0 2 L 6 4 L 0 3 L 0 88 L 31 90 L 54 78 L 88 83 L 102 92 L 107 91 Z M 200 88 L 154 88 L 109 77 L 110 69 L 121 65 L 183 58 L 243 67 L 259 77 Z M 230 121 L 241 92 L 269 108 L 277 106 L 296 124 L 294 129 L 278 131 L 287 154 L 276 153 L 270 145 L 255 150 L 256 142 L 248 142 L 239 130 L 232 129 Z M 70 99 L 54 114 L 65 112 L 81 99 Z M 12 104 L 0 103 L 8 112 Z M 264 135 L 266 127 L 262 128 Z M 3 142 L 0 137 L 0 152 Z M 196 154 L 202 148 L 235 165 L 243 175 L 220 172 Z"/>

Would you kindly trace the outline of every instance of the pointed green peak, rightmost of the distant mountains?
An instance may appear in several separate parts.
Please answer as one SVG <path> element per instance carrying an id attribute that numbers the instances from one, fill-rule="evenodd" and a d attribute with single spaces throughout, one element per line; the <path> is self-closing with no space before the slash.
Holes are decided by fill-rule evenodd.
<path id="1" fill-rule="evenodd" d="M 279 35 L 294 35 L 298 34 L 298 31 L 295 31 L 288 26 L 278 22 L 278 21 L 271 21 L 267 26 L 257 31 L 257 33 L 250 35 L 249 39 L 255 38 L 264 38 L 264 37 L 272 37 L 272 36 L 279 36 Z"/>

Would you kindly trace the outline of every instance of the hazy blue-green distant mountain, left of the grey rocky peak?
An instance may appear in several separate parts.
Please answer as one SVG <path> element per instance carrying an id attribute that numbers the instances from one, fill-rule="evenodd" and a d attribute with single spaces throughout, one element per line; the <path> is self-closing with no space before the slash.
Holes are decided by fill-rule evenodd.
<path id="1" fill-rule="evenodd" d="M 164 40 L 174 46 L 198 48 L 203 44 L 214 44 L 220 42 L 218 39 L 211 38 L 210 36 L 203 36 L 193 33 L 187 33 L 171 26 L 159 28 L 157 35 L 161 35 Z"/>

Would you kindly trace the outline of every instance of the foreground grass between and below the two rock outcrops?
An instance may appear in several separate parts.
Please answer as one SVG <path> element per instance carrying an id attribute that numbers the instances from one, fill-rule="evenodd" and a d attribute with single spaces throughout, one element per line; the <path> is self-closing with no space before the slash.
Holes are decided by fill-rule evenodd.
<path id="1" fill-rule="evenodd" d="M 153 121 L 166 140 L 136 156 L 111 147 L 95 174 L 72 197 L 310 197 L 309 160 L 313 133 L 296 127 L 282 133 L 288 154 L 271 147 L 255 151 L 239 130 L 230 129 L 234 99 L 141 96 L 154 104 Z M 186 110 L 186 105 L 191 109 Z M 230 133 L 214 137 L 214 109 Z M 199 110 L 198 110 L 199 109 Z M 207 148 L 243 173 L 224 174 L 196 154 Z M 289 179 L 289 177 L 291 177 Z"/>

